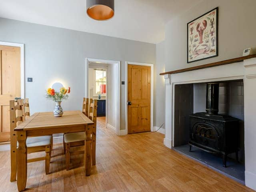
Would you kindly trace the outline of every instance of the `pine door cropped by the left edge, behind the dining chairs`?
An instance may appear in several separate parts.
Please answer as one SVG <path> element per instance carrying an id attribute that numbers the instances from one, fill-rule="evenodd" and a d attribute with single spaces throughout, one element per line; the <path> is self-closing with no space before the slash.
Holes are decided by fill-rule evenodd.
<path id="1" fill-rule="evenodd" d="M 20 95 L 20 47 L 0 45 L 0 142 L 10 141 L 10 100 Z"/>

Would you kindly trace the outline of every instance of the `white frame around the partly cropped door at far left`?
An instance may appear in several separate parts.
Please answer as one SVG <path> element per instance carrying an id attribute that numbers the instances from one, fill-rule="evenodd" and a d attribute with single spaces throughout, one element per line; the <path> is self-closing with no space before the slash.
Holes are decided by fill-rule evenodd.
<path id="1" fill-rule="evenodd" d="M 0 45 L 20 48 L 20 97 L 25 98 L 25 51 L 24 44 L 0 41 Z"/>

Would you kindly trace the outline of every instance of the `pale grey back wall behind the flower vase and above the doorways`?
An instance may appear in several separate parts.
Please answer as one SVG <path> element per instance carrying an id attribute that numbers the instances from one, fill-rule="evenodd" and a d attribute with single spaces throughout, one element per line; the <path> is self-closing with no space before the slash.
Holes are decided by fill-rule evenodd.
<path id="1" fill-rule="evenodd" d="M 118 30 L 118 29 L 117 29 Z M 0 18 L 0 41 L 25 44 L 26 97 L 31 112 L 52 111 L 54 103 L 44 98 L 55 81 L 71 87 L 64 110 L 81 110 L 85 95 L 85 58 L 121 61 L 121 80 L 125 80 L 125 61 L 156 61 L 156 45 L 63 28 Z M 120 128 L 125 129 L 125 86 L 120 94 Z"/>

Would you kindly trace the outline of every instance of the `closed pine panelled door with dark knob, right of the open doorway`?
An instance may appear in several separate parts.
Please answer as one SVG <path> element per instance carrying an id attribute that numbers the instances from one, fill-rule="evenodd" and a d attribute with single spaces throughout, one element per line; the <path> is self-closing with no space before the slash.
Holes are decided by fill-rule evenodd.
<path id="1" fill-rule="evenodd" d="M 128 134 L 150 131 L 151 67 L 128 64 Z"/>

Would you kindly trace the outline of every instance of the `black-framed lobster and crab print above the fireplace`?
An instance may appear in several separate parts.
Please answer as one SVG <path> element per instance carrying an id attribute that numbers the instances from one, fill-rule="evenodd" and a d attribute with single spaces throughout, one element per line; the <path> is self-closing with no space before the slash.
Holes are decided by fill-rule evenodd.
<path id="1" fill-rule="evenodd" d="M 218 56 L 218 7 L 187 24 L 187 62 Z"/>

